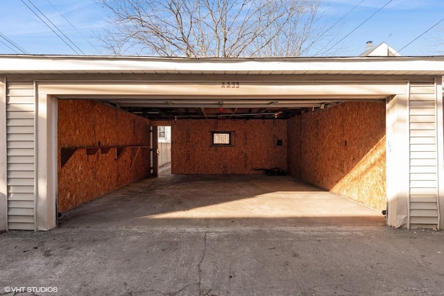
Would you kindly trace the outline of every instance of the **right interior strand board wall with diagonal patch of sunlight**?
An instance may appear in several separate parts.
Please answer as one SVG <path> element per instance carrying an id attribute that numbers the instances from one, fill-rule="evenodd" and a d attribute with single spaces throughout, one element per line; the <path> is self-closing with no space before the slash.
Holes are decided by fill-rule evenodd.
<path id="1" fill-rule="evenodd" d="M 385 103 L 343 103 L 288 121 L 289 173 L 386 209 Z"/>

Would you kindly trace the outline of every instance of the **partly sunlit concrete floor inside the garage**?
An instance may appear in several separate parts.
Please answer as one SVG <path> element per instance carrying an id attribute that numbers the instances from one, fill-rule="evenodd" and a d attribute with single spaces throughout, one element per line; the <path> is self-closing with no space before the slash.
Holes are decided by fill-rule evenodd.
<path id="1" fill-rule="evenodd" d="M 60 227 L 383 226 L 384 216 L 289 176 L 146 179 L 63 214 Z"/>

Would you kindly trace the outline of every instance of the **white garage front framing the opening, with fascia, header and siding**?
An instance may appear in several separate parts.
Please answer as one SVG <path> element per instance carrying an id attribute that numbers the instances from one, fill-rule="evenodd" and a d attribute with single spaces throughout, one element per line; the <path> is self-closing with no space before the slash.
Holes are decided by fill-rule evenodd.
<path id="1" fill-rule="evenodd" d="M 0 229 L 56 227 L 56 97 L 126 94 L 149 98 L 166 92 L 173 96 L 179 85 L 184 98 L 196 92 L 221 96 L 220 89 L 215 88 L 216 80 L 189 81 L 188 74 L 213 79 L 219 76 L 219 80 L 224 80 L 221 74 L 262 76 L 259 82 L 246 82 L 236 94 L 239 98 L 252 94 L 298 94 L 300 98 L 386 96 L 387 223 L 393 227 L 443 229 L 443 72 L 443 58 L 0 56 Z M 85 75 L 94 73 L 101 79 L 85 80 Z M 169 80 L 169 74 L 174 79 Z M 177 81 L 177 74 L 184 77 L 183 81 Z M 116 78 L 119 75 L 123 80 Z M 280 75 L 295 75 L 297 79 L 280 80 Z M 153 76 L 159 76 L 158 80 L 146 80 Z"/>

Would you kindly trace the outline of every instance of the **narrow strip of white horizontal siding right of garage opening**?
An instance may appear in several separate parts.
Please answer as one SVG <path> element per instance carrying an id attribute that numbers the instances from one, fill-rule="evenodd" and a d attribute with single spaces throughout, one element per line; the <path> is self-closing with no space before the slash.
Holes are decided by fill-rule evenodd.
<path id="1" fill-rule="evenodd" d="M 434 83 L 411 83 L 409 228 L 438 228 L 438 153 Z"/>

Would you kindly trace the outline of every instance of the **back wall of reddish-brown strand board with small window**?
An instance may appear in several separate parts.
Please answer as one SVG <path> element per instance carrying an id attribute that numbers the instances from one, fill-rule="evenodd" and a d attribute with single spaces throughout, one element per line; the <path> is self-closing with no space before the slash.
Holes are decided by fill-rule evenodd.
<path id="1" fill-rule="evenodd" d="M 234 131 L 234 147 L 212 147 L 212 131 Z M 282 146 L 278 146 L 282 139 Z M 287 122 L 283 120 L 179 120 L 171 126 L 171 172 L 254 174 L 254 168 L 287 170 Z"/>

